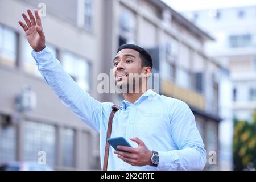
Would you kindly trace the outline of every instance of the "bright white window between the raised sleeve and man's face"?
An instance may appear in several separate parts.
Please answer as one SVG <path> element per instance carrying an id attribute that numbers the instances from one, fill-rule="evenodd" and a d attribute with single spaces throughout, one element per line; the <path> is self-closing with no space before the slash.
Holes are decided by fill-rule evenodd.
<path id="1" fill-rule="evenodd" d="M 82 89 L 89 91 L 89 72 L 90 65 L 84 57 L 77 56 L 71 52 L 63 53 L 63 68 L 81 86 Z"/>

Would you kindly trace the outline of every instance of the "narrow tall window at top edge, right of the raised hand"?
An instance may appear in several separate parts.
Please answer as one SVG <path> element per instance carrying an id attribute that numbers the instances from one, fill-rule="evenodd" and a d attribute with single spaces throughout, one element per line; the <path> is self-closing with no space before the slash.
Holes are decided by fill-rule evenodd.
<path id="1" fill-rule="evenodd" d="M 84 24 L 85 29 L 92 31 L 92 0 L 85 0 L 84 2 Z"/>

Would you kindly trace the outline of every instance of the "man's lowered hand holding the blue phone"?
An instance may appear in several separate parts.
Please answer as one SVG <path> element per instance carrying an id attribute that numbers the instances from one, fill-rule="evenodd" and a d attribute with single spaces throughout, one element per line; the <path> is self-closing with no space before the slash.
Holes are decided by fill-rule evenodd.
<path id="1" fill-rule="evenodd" d="M 131 164 L 132 166 L 146 166 L 151 164 L 152 151 L 148 150 L 144 142 L 138 137 L 130 138 L 131 141 L 136 142 L 138 146 L 136 148 L 117 146 L 119 150 L 127 151 L 114 151 L 118 158 L 124 162 Z M 130 152 L 130 153 L 128 153 Z"/>

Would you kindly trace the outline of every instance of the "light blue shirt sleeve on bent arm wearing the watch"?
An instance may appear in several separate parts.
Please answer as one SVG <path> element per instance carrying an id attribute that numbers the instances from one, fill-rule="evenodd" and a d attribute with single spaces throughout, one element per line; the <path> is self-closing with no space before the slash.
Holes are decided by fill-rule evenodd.
<path id="1" fill-rule="evenodd" d="M 159 151 L 158 170 L 203 170 L 206 151 L 188 105 L 180 101 L 170 116 L 171 135 L 177 150 Z"/>

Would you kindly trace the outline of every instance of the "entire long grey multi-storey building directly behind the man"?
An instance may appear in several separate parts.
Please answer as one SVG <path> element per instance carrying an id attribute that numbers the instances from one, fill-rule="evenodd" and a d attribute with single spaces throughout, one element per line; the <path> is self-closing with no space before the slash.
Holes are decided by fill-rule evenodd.
<path id="1" fill-rule="evenodd" d="M 159 93 L 191 107 L 207 159 L 210 151 L 217 153 L 217 164 L 207 162 L 205 169 L 218 169 L 219 75 L 226 75 L 204 53 L 205 41 L 213 40 L 208 34 L 161 1 L 0 3 L 0 162 L 38 160 L 38 152 L 45 151 L 47 163 L 55 169 L 100 169 L 98 134 L 47 86 L 19 27 L 21 12 L 45 5 L 42 24 L 47 46 L 98 101 L 123 100 L 118 94 L 97 92 L 97 76 L 110 74 L 118 46 L 135 43 L 146 48 L 154 58 L 154 72 L 159 73 Z"/>

